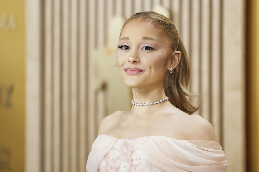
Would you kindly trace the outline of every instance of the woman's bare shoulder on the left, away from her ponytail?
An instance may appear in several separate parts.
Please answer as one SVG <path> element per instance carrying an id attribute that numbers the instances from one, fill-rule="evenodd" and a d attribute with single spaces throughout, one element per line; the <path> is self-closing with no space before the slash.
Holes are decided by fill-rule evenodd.
<path id="1" fill-rule="evenodd" d="M 115 123 L 119 120 L 121 117 L 121 114 L 123 111 L 116 111 L 112 113 L 111 115 L 106 116 L 100 124 L 98 135 L 104 134 L 107 130 L 112 128 Z"/>

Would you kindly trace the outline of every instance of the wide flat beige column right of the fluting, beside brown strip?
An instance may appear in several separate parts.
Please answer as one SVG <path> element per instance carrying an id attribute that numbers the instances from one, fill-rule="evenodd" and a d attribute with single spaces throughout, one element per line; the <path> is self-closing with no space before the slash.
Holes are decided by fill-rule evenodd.
<path id="1" fill-rule="evenodd" d="M 228 171 L 245 171 L 244 1 L 223 1 L 223 149 Z M 233 144 L 234 143 L 234 144 Z"/>

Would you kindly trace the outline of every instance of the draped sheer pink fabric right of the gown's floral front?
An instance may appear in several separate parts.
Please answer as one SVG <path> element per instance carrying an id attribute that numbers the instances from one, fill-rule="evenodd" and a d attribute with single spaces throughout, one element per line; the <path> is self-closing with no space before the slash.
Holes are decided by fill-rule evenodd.
<path id="1" fill-rule="evenodd" d="M 132 140 L 147 161 L 165 172 L 226 172 L 221 145 L 211 141 L 141 137 Z M 149 171 L 149 169 L 147 169 Z"/>

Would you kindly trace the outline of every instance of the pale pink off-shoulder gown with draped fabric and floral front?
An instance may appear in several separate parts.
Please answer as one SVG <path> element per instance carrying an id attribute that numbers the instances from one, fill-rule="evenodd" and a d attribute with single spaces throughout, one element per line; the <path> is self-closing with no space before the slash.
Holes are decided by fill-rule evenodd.
<path id="1" fill-rule="evenodd" d="M 87 172 L 226 172 L 221 145 L 163 136 L 117 139 L 99 135 L 89 154 Z"/>

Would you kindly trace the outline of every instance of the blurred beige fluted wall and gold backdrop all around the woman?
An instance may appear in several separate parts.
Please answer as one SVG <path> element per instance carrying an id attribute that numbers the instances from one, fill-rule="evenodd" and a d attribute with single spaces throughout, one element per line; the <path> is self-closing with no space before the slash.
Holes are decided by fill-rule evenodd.
<path id="1" fill-rule="evenodd" d="M 259 172 L 257 0 L 0 0 L 0 172 L 85 171 L 101 119 L 131 107 L 115 51 L 140 11 L 178 28 L 228 172 Z"/>

